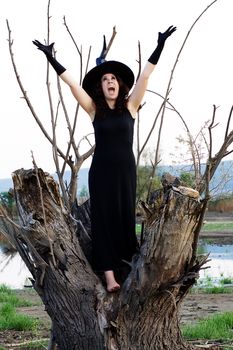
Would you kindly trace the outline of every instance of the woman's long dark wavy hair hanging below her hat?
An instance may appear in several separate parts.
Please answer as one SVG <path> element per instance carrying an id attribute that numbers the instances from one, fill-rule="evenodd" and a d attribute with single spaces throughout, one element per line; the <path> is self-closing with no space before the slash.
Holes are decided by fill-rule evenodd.
<path id="1" fill-rule="evenodd" d="M 127 106 L 129 88 L 120 77 L 118 77 L 117 75 L 115 75 L 115 77 L 119 84 L 119 94 L 116 99 L 115 110 L 122 112 Z M 105 117 L 106 111 L 108 110 L 109 107 L 104 97 L 101 81 L 98 81 L 98 83 L 96 84 L 96 87 L 93 89 L 92 98 L 96 106 L 95 117 L 97 118 Z"/>

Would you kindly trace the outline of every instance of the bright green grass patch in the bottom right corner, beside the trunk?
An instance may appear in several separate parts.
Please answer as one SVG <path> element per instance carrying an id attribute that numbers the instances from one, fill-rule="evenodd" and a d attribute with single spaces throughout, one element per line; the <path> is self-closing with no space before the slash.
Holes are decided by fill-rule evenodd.
<path id="1" fill-rule="evenodd" d="M 186 325 L 182 334 L 186 339 L 224 339 L 233 340 L 233 312 L 216 314 L 198 321 L 195 325 Z"/>

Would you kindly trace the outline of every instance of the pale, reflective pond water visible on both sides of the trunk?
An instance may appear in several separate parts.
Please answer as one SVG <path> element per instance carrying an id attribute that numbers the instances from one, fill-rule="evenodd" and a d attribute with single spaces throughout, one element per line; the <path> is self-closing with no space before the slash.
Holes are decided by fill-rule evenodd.
<path id="1" fill-rule="evenodd" d="M 218 281 L 222 277 L 233 277 L 233 244 L 210 244 L 202 240 L 200 253 L 208 254 L 211 261 L 200 271 L 200 279 L 211 278 Z M 30 285 L 31 274 L 18 253 L 6 252 L 0 246 L 0 284 L 13 289 Z"/>

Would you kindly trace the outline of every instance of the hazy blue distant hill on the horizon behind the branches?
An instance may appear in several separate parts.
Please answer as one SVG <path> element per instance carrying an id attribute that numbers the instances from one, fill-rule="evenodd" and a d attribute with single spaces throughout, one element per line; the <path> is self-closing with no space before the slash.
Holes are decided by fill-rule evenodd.
<path id="1" fill-rule="evenodd" d="M 203 164 L 204 169 L 204 164 Z M 181 172 L 188 172 L 191 167 L 188 165 L 165 165 L 159 166 L 157 171 L 159 175 L 164 172 L 169 172 L 172 175 L 179 176 Z M 78 191 L 83 188 L 88 189 L 88 172 L 89 168 L 82 168 L 78 174 Z M 70 172 L 65 173 L 64 179 L 69 183 Z M 54 174 L 55 180 L 57 175 Z M 0 192 L 6 192 L 13 186 L 11 179 L 0 179 Z M 221 162 L 210 184 L 211 190 L 214 195 L 233 193 L 233 160 L 227 160 Z"/>

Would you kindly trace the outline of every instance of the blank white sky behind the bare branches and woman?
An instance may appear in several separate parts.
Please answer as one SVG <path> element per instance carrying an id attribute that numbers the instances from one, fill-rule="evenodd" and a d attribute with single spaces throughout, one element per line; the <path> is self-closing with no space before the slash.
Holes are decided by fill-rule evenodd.
<path id="1" fill-rule="evenodd" d="M 211 3 L 207 0 L 106 0 L 77 1 L 51 0 L 51 41 L 55 41 L 58 60 L 79 79 L 79 60 L 74 46 L 63 25 L 63 16 L 79 47 L 82 45 L 84 62 L 92 45 L 90 66 L 102 48 L 102 36 L 110 39 L 113 26 L 117 36 L 107 56 L 128 64 L 137 73 L 137 44 L 141 43 L 142 61 L 146 62 L 157 43 L 158 31 L 169 25 L 177 31 L 167 40 L 165 49 L 149 88 L 164 95 L 170 72 L 183 40 L 198 15 Z M 50 130 L 50 112 L 45 85 L 46 60 L 32 44 L 43 41 L 47 35 L 47 0 L 7 0 L 2 4 L 0 17 L 1 45 L 1 138 L 0 178 L 10 177 L 18 168 L 31 168 L 33 151 L 37 165 L 45 171 L 54 172 L 51 146 L 41 134 L 16 82 L 8 50 L 8 19 L 14 40 L 14 57 L 24 88 L 41 121 Z M 170 102 L 182 114 L 193 133 L 212 117 L 213 104 L 219 106 L 215 145 L 221 141 L 221 129 L 225 126 L 233 104 L 233 27 L 232 0 L 218 0 L 193 29 L 180 57 L 172 81 Z M 53 98 L 56 106 L 55 73 L 51 70 Z M 67 107 L 74 114 L 75 101 L 63 84 Z M 158 98 L 146 95 L 147 105 L 142 120 L 142 138 L 149 129 L 159 102 Z M 148 113 L 146 113 L 148 111 Z M 147 115 L 145 115 L 147 114 Z M 62 118 L 62 117 L 61 117 Z M 72 118 L 72 117 L 71 117 Z M 162 157 L 169 162 L 170 153 L 175 153 L 174 139 L 183 129 L 175 113 L 166 113 L 163 129 Z M 84 113 L 79 117 L 77 139 L 92 131 L 89 118 Z M 58 128 L 59 146 L 65 150 L 67 129 L 64 123 Z M 154 141 L 156 136 L 154 136 Z M 87 163 L 88 165 L 88 163 Z"/>

